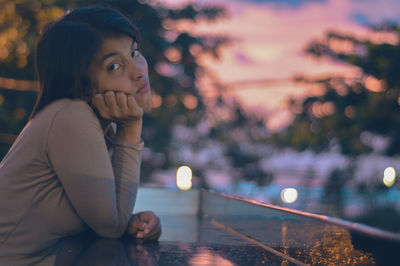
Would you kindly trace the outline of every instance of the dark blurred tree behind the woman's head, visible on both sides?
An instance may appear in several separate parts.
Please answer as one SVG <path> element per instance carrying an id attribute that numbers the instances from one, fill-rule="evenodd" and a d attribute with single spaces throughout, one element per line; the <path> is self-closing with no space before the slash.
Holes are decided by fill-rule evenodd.
<path id="1" fill-rule="evenodd" d="M 198 58 L 206 54 L 218 58 L 219 47 L 228 41 L 221 36 L 195 36 L 188 30 L 199 20 L 214 21 L 225 12 L 220 7 L 193 4 L 169 9 L 150 0 L 0 0 L 0 76 L 33 80 L 34 46 L 43 26 L 68 9 L 92 4 L 121 10 L 141 32 L 141 49 L 148 61 L 154 92 L 154 109 L 144 119 L 143 138 L 154 152 L 165 152 L 177 117 L 179 123 L 190 126 L 206 114 L 206 105 L 195 84 L 199 75 L 205 73 Z M 181 29 L 182 23 L 189 29 Z M 35 93 L 0 90 L 0 133 L 19 133 L 35 97 Z M 9 145 L 3 143 L 0 157 Z M 165 167 L 168 162 L 167 158 Z"/>

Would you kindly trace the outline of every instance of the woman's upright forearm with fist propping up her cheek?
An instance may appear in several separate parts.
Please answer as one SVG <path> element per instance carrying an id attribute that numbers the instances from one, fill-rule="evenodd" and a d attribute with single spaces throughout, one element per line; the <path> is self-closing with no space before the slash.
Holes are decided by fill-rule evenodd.
<path id="1" fill-rule="evenodd" d="M 103 234 L 109 236 L 119 236 L 126 230 L 139 185 L 143 111 L 131 101 L 133 98 L 128 98 L 123 93 L 109 91 L 93 99 L 99 115 L 117 123 L 116 136 L 108 138 L 113 147 L 111 164 L 116 197 L 114 214 L 110 217 L 113 219 L 110 221 L 112 232 Z"/>

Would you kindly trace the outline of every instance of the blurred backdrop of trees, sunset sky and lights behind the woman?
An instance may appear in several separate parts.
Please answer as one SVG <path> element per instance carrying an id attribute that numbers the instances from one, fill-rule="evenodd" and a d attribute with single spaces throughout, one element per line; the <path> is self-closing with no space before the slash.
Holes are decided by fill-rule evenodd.
<path id="1" fill-rule="evenodd" d="M 133 20 L 149 63 L 143 185 L 400 232 L 396 0 L 0 0 L 0 158 L 36 99 L 40 30 L 99 3 Z"/>

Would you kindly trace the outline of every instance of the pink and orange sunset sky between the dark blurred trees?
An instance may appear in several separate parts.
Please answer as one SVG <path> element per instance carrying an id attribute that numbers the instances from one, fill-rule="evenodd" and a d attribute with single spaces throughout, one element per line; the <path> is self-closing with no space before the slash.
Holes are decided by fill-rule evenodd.
<path id="1" fill-rule="evenodd" d="M 162 0 L 179 6 L 188 0 Z M 271 127 L 288 121 L 285 103 L 290 95 L 309 90 L 293 84 L 297 74 L 352 75 L 357 69 L 326 60 L 315 60 L 303 52 L 307 44 L 328 30 L 369 34 L 365 25 L 400 21 L 398 0 L 194 0 L 220 4 L 228 17 L 215 23 L 199 23 L 191 32 L 222 34 L 235 42 L 222 51 L 219 62 L 206 60 L 223 84 L 250 109 L 274 111 Z M 263 81 L 254 82 L 254 81 Z M 248 83 L 250 81 L 250 83 Z M 243 82 L 248 83 L 245 87 Z"/>

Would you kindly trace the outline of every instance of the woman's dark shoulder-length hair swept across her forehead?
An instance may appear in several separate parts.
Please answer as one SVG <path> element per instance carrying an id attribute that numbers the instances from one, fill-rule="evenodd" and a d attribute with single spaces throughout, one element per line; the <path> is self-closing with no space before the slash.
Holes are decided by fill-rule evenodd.
<path id="1" fill-rule="evenodd" d="M 35 51 L 40 90 L 31 118 L 49 103 L 61 98 L 88 100 L 92 91 L 87 69 L 104 38 L 127 35 L 139 41 L 128 18 L 106 7 L 72 10 L 48 25 Z"/>

